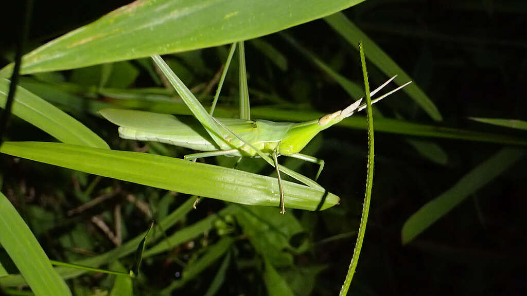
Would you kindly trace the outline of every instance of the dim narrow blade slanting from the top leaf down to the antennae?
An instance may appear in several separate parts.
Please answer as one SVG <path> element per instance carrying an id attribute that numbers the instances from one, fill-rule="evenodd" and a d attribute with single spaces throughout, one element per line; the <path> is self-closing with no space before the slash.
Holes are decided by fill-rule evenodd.
<path id="1" fill-rule="evenodd" d="M 330 66 L 324 63 L 320 58 L 318 58 L 314 53 L 308 51 L 304 46 L 298 44 L 295 38 L 291 37 L 289 34 L 280 33 L 280 36 L 284 38 L 290 45 L 292 45 L 297 51 L 304 55 L 308 60 L 313 62 L 317 67 L 326 72 L 331 78 L 333 78 L 344 90 L 348 93 L 349 96 L 353 97 L 355 100 L 362 97 L 363 90 L 356 83 L 349 81 L 346 77 L 338 74 Z"/>

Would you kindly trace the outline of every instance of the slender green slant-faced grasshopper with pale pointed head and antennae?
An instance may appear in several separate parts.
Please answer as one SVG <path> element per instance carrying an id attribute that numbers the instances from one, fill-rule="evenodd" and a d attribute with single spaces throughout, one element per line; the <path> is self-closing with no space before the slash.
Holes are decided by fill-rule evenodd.
<path id="1" fill-rule="evenodd" d="M 233 47 L 231 47 L 228 63 L 232 57 Z M 362 98 L 360 98 L 341 111 L 327 114 L 317 120 L 302 123 L 271 122 L 267 120 L 252 121 L 248 118 L 215 118 L 212 116 L 212 112 L 209 114 L 205 110 L 187 86 L 172 72 L 170 67 L 159 55 L 153 55 L 152 59 L 178 92 L 183 102 L 189 107 L 193 116 L 174 116 L 170 114 L 112 108 L 101 110 L 100 114 L 105 119 L 119 125 L 119 135 L 123 139 L 162 142 L 203 151 L 185 155 L 184 159 L 186 160 L 196 161 L 196 159 L 201 157 L 218 155 L 261 157 L 276 168 L 280 192 L 280 213 L 282 214 L 285 213 L 285 202 L 280 172 L 308 186 L 320 189 L 321 186 L 308 177 L 279 165 L 278 156 L 290 156 L 318 164 L 319 169 L 315 176 L 315 180 L 317 180 L 324 168 L 324 161 L 299 152 L 319 132 L 366 108 L 366 104 L 360 105 L 362 102 Z M 225 77 L 227 68 L 228 65 L 224 69 L 224 75 L 218 86 L 217 95 L 221 89 L 221 83 Z M 384 86 L 394 80 L 395 77 L 390 78 L 384 84 L 380 85 L 376 90 L 371 92 L 371 95 L 375 95 Z M 400 90 L 409 83 L 411 82 L 375 98 L 375 100 L 372 100 L 372 104 Z M 216 100 L 214 100 L 213 106 L 215 104 Z M 249 115 L 246 117 L 249 117 Z"/>

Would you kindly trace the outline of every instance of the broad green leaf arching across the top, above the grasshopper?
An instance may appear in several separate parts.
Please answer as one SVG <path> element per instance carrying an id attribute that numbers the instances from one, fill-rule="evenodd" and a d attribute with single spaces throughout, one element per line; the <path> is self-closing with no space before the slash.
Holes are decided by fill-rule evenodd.
<path id="1" fill-rule="evenodd" d="M 249 40 L 362 1 L 135 1 L 26 54 L 21 73 L 66 70 Z M 5 67 L 0 75 L 5 77 L 11 68 Z"/>

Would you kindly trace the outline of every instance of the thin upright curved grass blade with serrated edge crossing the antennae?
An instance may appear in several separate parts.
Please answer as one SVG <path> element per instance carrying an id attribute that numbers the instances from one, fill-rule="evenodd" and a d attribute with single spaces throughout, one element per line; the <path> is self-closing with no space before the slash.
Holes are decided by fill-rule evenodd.
<path id="1" fill-rule="evenodd" d="M 373 138 L 373 112 L 372 112 L 372 99 L 369 96 L 369 84 L 368 84 L 368 73 L 366 71 L 366 60 L 364 58 L 364 47 L 362 43 L 359 43 L 360 63 L 363 68 L 364 76 L 364 87 L 366 90 L 366 120 L 368 124 L 368 164 L 366 166 L 366 192 L 364 194 L 363 212 L 360 216 L 359 232 L 357 234 L 357 241 L 355 242 L 355 248 L 353 249 L 352 262 L 349 263 L 348 273 L 346 279 L 340 289 L 340 296 L 345 296 L 348 293 L 349 284 L 352 283 L 355 269 L 359 260 L 360 249 L 364 241 L 364 235 L 366 234 L 366 223 L 368 222 L 369 204 L 372 196 L 373 187 L 373 159 L 375 155 L 375 142 Z"/>

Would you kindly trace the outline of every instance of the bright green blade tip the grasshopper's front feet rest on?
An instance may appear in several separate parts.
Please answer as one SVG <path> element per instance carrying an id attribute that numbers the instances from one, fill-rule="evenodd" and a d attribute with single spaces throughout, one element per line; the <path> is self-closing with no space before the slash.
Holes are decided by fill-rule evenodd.
<path id="1" fill-rule="evenodd" d="M 172 157 L 46 142 L 6 142 L 1 152 L 86 173 L 230 202 L 278 206 L 277 179 Z M 324 190 L 282 182 L 288 208 L 314 211 L 338 203 Z"/>

